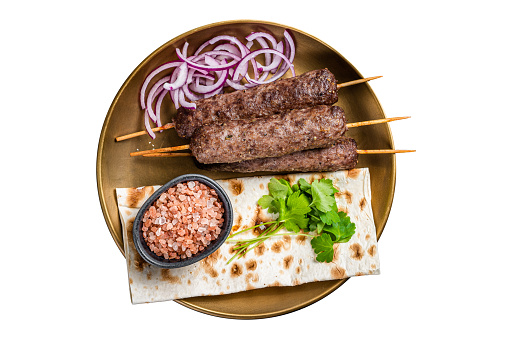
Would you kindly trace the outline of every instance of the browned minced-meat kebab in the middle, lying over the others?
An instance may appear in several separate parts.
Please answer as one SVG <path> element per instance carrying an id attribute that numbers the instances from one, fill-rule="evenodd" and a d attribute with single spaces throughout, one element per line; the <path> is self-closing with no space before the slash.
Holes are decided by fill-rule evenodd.
<path id="1" fill-rule="evenodd" d="M 190 149 L 202 164 L 232 163 L 330 147 L 346 130 L 343 110 L 321 105 L 204 125 L 191 138 Z"/>

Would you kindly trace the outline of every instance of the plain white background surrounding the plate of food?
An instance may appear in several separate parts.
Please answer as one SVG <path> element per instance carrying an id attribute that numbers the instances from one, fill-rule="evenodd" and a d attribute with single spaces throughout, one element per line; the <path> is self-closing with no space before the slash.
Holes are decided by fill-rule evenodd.
<path id="1" fill-rule="evenodd" d="M 0 336 L 507 337 L 507 10 L 503 1 L 25 1 L 0 8 Z M 15 3 L 15 4 L 14 4 Z M 272 21 L 326 42 L 391 124 L 381 275 L 297 312 L 241 321 L 130 304 L 101 213 L 96 152 L 118 89 L 190 29 Z M 1 333 L 3 332 L 3 333 Z M 8 334 L 5 336 L 4 334 Z"/>

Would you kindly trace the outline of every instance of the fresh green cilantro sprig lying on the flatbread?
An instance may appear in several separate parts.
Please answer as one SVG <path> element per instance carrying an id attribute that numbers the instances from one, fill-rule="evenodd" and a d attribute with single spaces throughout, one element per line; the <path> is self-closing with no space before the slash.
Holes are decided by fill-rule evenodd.
<path id="1" fill-rule="evenodd" d="M 332 180 L 321 179 L 308 183 L 299 179 L 290 186 L 284 179 L 272 178 L 268 184 L 269 194 L 258 200 L 260 207 L 278 218 L 263 224 L 231 234 L 228 242 L 236 242 L 237 253 L 229 261 L 244 256 L 265 240 L 281 235 L 305 235 L 311 237 L 311 246 L 317 254 L 316 260 L 331 262 L 334 257 L 334 244 L 348 242 L 355 234 L 355 224 L 344 212 L 338 212 L 334 193 L 338 192 Z M 264 228 L 253 239 L 233 240 L 240 233 L 254 228 Z M 285 228 L 290 233 L 279 233 Z"/>

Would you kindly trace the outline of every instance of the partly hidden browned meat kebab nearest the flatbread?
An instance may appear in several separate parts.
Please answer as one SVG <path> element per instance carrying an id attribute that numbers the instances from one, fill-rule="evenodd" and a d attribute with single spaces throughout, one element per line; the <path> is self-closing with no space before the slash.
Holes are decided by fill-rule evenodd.
<path id="1" fill-rule="evenodd" d="M 236 163 L 201 165 L 216 172 L 331 172 L 357 166 L 357 144 L 352 138 L 341 138 L 328 148 L 310 149 L 277 158 L 261 158 Z"/>

